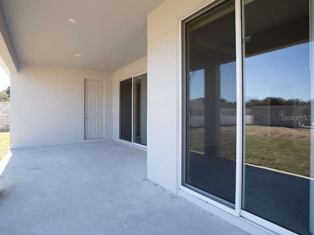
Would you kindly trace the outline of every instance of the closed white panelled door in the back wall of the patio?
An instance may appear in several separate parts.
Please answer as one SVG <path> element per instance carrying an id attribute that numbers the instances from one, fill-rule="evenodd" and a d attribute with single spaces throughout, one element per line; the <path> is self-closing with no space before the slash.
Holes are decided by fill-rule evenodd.
<path id="1" fill-rule="evenodd" d="M 103 138 L 103 82 L 85 80 L 85 139 Z"/>

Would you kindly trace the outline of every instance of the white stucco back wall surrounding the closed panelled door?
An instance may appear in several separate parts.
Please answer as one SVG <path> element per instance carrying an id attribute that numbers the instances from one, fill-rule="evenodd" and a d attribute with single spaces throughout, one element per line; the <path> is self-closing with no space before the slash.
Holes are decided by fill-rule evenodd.
<path id="1" fill-rule="evenodd" d="M 20 64 L 11 74 L 11 148 L 83 142 L 84 78 L 104 81 L 104 138 L 111 140 L 111 73 Z"/>

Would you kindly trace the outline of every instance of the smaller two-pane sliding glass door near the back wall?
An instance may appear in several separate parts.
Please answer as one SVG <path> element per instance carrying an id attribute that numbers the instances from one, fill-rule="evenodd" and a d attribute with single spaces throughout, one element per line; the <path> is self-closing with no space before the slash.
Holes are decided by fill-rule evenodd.
<path id="1" fill-rule="evenodd" d="M 120 140 L 147 145 L 147 73 L 120 82 Z"/>

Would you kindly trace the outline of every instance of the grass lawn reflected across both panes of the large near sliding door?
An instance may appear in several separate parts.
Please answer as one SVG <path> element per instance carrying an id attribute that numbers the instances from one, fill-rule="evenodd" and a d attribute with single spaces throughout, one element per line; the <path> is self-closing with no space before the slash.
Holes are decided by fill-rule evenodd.
<path id="1" fill-rule="evenodd" d="M 309 129 L 247 125 L 245 163 L 310 176 L 310 135 Z M 190 136 L 190 149 L 205 152 L 204 128 L 192 128 Z M 220 156 L 235 159 L 233 127 L 220 128 Z"/>

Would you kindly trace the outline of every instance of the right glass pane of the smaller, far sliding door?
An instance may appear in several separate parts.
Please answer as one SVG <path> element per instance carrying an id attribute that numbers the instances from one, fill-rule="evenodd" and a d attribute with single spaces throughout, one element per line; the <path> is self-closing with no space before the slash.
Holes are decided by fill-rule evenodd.
<path id="1" fill-rule="evenodd" d="M 147 145 L 147 73 L 134 77 L 134 142 Z"/>

